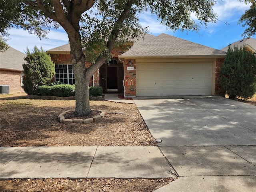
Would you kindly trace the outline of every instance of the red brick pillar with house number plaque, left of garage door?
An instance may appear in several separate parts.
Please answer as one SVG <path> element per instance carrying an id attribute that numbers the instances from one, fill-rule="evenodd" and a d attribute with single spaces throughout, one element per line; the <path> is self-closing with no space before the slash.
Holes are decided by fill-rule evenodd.
<path id="1" fill-rule="evenodd" d="M 126 70 L 129 65 L 129 59 L 124 60 L 124 86 L 125 86 L 125 96 L 134 97 L 136 96 L 136 60 L 132 60 L 132 67 L 134 70 Z"/>

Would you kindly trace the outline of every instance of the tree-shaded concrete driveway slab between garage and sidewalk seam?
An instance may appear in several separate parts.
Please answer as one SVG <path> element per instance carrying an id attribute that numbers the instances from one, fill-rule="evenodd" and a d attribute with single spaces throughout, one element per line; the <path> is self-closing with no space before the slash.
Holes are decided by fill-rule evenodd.
<path id="1" fill-rule="evenodd" d="M 142 118 L 159 146 L 256 144 L 256 106 L 221 96 L 137 97 Z"/>

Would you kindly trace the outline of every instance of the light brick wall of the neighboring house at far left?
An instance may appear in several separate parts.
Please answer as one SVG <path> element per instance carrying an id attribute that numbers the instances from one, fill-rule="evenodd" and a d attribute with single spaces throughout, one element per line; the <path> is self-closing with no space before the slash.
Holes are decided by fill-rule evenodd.
<path id="1" fill-rule="evenodd" d="M 21 77 L 18 71 L 0 70 L 0 84 L 8 85 L 10 93 L 24 92 L 21 88 Z"/>

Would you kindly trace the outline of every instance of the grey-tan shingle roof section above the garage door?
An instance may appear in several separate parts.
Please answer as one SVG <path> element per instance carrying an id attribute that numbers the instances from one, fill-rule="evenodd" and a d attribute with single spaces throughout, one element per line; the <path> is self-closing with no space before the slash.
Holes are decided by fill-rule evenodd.
<path id="1" fill-rule="evenodd" d="M 151 37 L 150 41 L 141 43 L 139 46 L 133 46 L 125 52 L 120 58 L 131 57 L 225 57 L 226 52 L 210 48 L 201 44 L 190 42 L 181 38 L 160 34 Z"/>

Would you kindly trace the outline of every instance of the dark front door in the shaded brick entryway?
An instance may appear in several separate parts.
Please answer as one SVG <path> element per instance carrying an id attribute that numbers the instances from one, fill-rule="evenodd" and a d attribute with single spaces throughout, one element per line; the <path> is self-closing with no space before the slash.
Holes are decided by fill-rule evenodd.
<path id="1" fill-rule="evenodd" d="M 118 70 L 117 67 L 107 67 L 107 92 L 118 91 Z"/>

